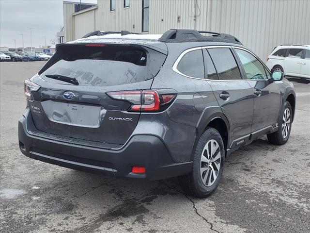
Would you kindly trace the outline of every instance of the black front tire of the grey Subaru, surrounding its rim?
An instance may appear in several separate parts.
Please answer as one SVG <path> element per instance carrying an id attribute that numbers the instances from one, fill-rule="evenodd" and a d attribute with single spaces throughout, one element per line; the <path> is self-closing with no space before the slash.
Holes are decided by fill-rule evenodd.
<path id="1" fill-rule="evenodd" d="M 287 128 L 287 125 L 288 125 L 283 120 L 284 112 L 286 111 L 286 109 L 288 109 L 289 113 L 290 113 L 290 124 L 289 124 L 288 130 L 287 130 L 287 135 L 285 136 L 285 133 L 283 135 L 282 129 L 284 127 Z M 287 116 L 287 113 L 286 113 L 286 116 Z M 275 144 L 275 145 L 283 145 L 289 140 L 291 129 L 292 129 L 292 117 L 293 117 L 292 106 L 288 101 L 285 101 L 282 108 L 281 108 L 280 115 L 279 115 L 279 121 L 278 121 L 279 129 L 278 129 L 278 131 L 275 133 L 267 134 L 267 138 L 268 138 L 268 141 L 270 143 Z M 284 130 L 284 132 L 285 132 L 285 130 Z"/>

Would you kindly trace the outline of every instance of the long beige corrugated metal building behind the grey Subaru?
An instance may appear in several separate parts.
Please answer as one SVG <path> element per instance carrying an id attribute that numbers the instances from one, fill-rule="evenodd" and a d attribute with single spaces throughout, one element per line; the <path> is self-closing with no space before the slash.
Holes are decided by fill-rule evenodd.
<path id="1" fill-rule="evenodd" d="M 197 29 L 233 34 L 264 61 L 278 45 L 310 44 L 310 0 L 98 0 L 81 11 L 76 4 L 63 2 L 64 41 L 96 30 Z"/>

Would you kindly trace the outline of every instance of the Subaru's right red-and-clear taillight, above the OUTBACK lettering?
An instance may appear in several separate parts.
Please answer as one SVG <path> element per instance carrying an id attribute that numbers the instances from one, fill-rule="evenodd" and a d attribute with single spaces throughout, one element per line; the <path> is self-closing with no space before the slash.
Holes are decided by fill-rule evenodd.
<path id="1" fill-rule="evenodd" d="M 159 94 L 151 90 L 109 92 L 107 95 L 114 100 L 131 103 L 129 112 L 158 112 L 176 96 L 175 94 Z"/>

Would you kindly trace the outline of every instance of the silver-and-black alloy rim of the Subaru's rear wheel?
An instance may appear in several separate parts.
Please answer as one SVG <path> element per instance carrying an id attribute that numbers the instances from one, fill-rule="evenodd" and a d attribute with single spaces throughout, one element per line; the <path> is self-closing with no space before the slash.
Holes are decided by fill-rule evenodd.
<path id="1" fill-rule="evenodd" d="M 221 152 L 216 140 L 211 139 L 205 144 L 200 164 L 202 183 L 211 186 L 217 180 L 221 165 Z"/>

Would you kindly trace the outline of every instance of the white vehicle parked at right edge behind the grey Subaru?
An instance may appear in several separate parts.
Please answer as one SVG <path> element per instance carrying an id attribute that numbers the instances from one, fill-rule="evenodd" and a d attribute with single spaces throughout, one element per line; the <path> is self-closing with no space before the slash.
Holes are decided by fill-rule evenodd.
<path id="1" fill-rule="evenodd" d="M 310 45 L 280 45 L 268 56 L 266 65 L 285 76 L 310 80 Z"/>

